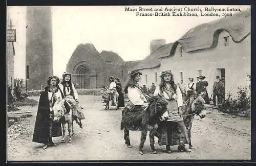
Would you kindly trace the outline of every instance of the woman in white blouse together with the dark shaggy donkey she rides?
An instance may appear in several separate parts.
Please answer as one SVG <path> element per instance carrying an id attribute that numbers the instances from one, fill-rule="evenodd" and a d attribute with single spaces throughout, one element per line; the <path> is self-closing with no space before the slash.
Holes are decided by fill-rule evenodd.
<path id="1" fill-rule="evenodd" d="M 150 131 L 152 153 L 157 153 L 154 137 L 158 135 L 156 130 L 157 122 L 159 117 L 165 112 L 167 102 L 161 95 L 157 97 L 143 95 L 138 84 L 141 75 L 142 73 L 138 70 L 133 70 L 129 73 L 129 80 L 124 88 L 129 101 L 127 101 L 126 106 L 122 110 L 121 130 L 124 130 L 125 144 L 129 148 L 131 148 L 129 130 L 141 131 L 139 154 L 142 155 L 147 131 Z"/>

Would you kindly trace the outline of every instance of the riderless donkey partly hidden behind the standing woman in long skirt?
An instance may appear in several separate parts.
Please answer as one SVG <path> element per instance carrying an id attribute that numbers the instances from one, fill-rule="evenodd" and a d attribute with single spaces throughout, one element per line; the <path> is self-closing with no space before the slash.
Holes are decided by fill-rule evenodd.
<path id="1" fill-rule="evenodd" d="M 188 145 L 189 149 L 195 149 L 191 144 L 191 127 L 195 117 L 197 114 L 200 118 L 204 118 L 206 112 L 204 110 L 205 101 L 200 94 L 194 94 L 194 97 L 190 97 L 183 105 L 183 120 L 187 129 L 188 135 Z"/>

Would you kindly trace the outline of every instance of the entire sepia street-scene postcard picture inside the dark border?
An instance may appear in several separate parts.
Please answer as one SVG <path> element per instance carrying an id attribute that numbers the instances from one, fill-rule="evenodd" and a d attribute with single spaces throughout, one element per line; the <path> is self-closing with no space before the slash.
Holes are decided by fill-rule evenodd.
<path id="1" fill-rule="evenodd" d="M 6 162 L 251 159 L 251 6 L 7 6 Z"/>

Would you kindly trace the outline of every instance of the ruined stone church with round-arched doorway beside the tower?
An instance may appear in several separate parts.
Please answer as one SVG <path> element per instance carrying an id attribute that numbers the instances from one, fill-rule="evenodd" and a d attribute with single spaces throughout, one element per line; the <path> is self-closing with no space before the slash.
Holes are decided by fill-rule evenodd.
<path id="1" fill-rule="evenodd" d="M 73 52 L 66 71 L 72 73 L 72 81 L 78 88 L 99 88 L 109 85 L 109 76 L 118 77 L 123 83 L 128 70 L 138 61 L 124 62 L 112 51 L 99 53 L 93 44 L 79 44 Z"/>

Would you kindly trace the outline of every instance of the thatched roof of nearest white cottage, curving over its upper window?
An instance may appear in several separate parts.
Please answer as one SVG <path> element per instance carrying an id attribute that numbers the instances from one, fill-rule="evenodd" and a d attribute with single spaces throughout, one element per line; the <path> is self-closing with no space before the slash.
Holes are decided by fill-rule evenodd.
<path id="1" fill-rule="evenodd" d="M 250 9 L 234 13 L 190 29 L 178 42 L 185 52 L 214 48 L 222 31 L 227 31 L 234 42 L 240 42 L 250 34 L 250 19 Z"/>

